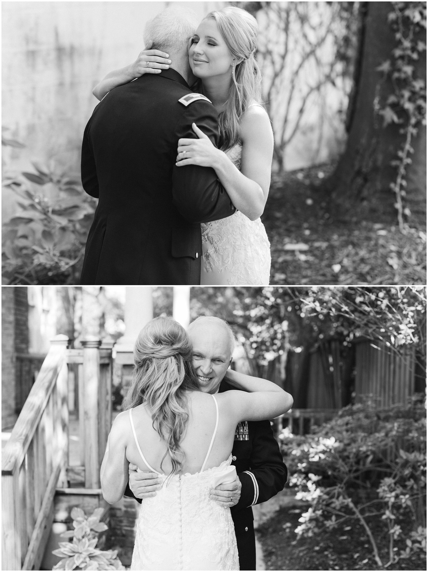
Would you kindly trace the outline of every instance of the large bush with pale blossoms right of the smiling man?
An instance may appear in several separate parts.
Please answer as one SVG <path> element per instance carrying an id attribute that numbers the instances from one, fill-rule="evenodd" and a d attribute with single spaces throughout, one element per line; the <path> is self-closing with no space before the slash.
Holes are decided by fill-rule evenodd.
<path id="1" fill-rule="evenodd" d="M 356 519 L 379 567 L 426 552 L 426 410 L 420 402 L 417 396 L 408 406 L 382 411 L 368 402 L 343 408 L 311 435 L 283 431 L 282 452 L 293 474 L 290 486 L 309 503 L 298 535 L 310 537 Z M 387 527 L 387 564 L 367 523 L 373 518 Z M 414 530 L 402 530 L 409 519 Z M 406 542 L 400 555 L 394 546 L 398 539 Z"/>

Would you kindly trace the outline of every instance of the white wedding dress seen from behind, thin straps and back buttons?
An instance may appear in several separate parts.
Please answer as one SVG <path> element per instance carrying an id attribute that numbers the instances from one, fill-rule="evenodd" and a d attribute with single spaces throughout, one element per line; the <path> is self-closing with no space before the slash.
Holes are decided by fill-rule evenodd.
<path id="1" fill-rule="evenodd" d="M 201 471 L 174 475 L 156 496 L 143 499 L 137 522 L 131 570 L 239 570 L 238 549 L 230 509 L 211 501 L 214 479 L 230 466 L 232 456 L 204 471 L 214 443 L 217 423 Z M 149 469 L 165 481 L 166 475 L 147 463 L 131 411 L 131 427 L 138 451 Z M 220 479 L 221 480 L 221 479 Z"/>

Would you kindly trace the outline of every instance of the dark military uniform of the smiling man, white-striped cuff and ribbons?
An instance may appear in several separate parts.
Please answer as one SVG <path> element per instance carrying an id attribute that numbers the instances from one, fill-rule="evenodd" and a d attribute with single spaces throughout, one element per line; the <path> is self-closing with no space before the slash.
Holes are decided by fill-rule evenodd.
<path id="1" fill-rule="evenodd" d="M 235 389 L 227 382 L 220 384 L 219 392 Z M 230 512 L 235 525 L 239 569 L 255 570 L 255 536 L 253 505 L 269 501 L 285 486 L 287 467 L 274 438 L 269 421 L 239 423 L 232 448 L 232 464 L 241 481 L 241 498 Z M 129 488 L 126 496 L 135 496 Z M 135 498 L 139 503 L 141 499 Z"/>

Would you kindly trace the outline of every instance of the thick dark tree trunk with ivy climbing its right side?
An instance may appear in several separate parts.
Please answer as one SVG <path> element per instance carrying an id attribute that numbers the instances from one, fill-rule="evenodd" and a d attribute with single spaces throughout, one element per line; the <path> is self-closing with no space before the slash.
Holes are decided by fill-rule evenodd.
<path id="1" fill-rule="evenodd" d="M 385 78 L 377 67 L 393 60 L 396 47 L 394 31 L 387 16 L 393 11 L 390 2 L 367 2 L 362 11 L 362 61 L 357 93 L 350 102 L 353 106 L 351 125 L 345 153 L 331 178 L 326 181 L 334 202 L 343 208 L 355 208 L 359 202 L 373 211 L 394 215 L 394 194 L 390 183 L 395 181 L 397 170 L 391 160 L 397 159 L 397 151 L 405 139 L 399 133 L 401 125 L 391 123 L 383 127 L 379 110 L 393 93 L 390 77 Z M 421 38 L 422 39 L 422 38 Z M 413 62 L 419 78 L 426 79 L 426 56 L 421 54 Z M 418 219 L 425 216 L 426 181 L 426 128 L 418 126 L 418 136 L 413 141 L 413 164 L 407 167 L 407 198 Z"/>

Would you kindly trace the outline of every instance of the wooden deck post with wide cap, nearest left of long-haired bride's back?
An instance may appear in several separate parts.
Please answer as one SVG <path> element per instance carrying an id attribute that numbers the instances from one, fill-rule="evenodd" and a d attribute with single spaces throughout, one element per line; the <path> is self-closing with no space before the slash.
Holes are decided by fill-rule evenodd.
<path id="1" fill-rule="evenodd" d="M 83 404 L 79 403 L 85 419 L 85 487 L 99 488 L 99 347 L 101 340 L 86 336 L 83 345 Z"/>

